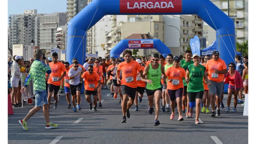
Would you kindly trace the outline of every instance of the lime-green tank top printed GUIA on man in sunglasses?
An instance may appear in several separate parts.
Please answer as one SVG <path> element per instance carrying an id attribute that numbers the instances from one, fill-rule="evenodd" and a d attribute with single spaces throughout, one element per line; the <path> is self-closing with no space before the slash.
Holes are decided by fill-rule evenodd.
<path id="1" fill-rule="evenodd" d="M 148 79 L 152 80 L 152 84 L 147 83 L 147 89 L 148 90 L 156 90 L 161 87 L 161 64 L 159 64 L 157 69 L 153 69 L 151 66 L 151 63 L 149 64 L 149 70 L 147 73 Z"/>

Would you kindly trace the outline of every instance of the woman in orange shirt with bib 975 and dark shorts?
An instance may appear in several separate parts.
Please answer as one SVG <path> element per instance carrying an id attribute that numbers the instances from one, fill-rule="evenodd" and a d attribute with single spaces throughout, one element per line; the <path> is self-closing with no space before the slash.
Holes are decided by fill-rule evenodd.
<path id="1" fill-rule="evenodd" d="M 179 67 L 180 65 L 180 59 L 178 56 L 175 56 L 173 58 L 173 66 L 169 67 L 166 71 L 166 79 L 168 81 L 167 83 L 167 93 L 171 100 L 171 108 L 172 108 L 172 114 L 170 119 L 174 119 L 174 115 L 176 113 L 175 109 L 175 101 L 177 101 L 177 107 L 179 112 L 179 118 L 178 121 L 184 120 L 181 116 L 182 111 L 182 95 L 183 95 L 183 78 L 186 77 L 186 71 L 184 68 Z"/>

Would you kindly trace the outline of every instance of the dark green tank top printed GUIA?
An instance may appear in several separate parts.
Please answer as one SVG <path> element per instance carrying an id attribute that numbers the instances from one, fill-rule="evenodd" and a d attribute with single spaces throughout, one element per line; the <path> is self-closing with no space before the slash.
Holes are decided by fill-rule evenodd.
<path id="1" fill-rule="evenodd" d="M 187 68 L 189 71 L 189 83 L 187 84 L 187 92 L 204 91 L 203 77 L 206 68 L 200 64 L 198 67 L 192 64 Z"/>

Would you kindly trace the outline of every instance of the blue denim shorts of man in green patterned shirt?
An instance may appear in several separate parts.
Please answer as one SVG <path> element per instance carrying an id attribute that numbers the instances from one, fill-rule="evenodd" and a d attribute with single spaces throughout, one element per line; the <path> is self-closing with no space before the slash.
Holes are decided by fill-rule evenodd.
<path id="1" fill-rule="evenodd" d="M 43 106 L 42 102 L 44 102 L 44 104 L 49 104 L 47 101 L 46 90 L 33 90 L 33 92 L 36 97 L 35 106 Z"/>

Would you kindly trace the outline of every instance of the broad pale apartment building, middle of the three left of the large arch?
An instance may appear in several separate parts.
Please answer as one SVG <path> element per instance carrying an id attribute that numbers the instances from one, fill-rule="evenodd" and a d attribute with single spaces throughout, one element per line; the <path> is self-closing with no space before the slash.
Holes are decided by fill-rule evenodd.
<path id="1" fill-rule="evenodd" d="M 55 48 L 56 33 L 59 26 L 64 26 L 67 20 L 67 13 L 45 14 L 40 17 L 40 48 L 50 51 Z"/>

